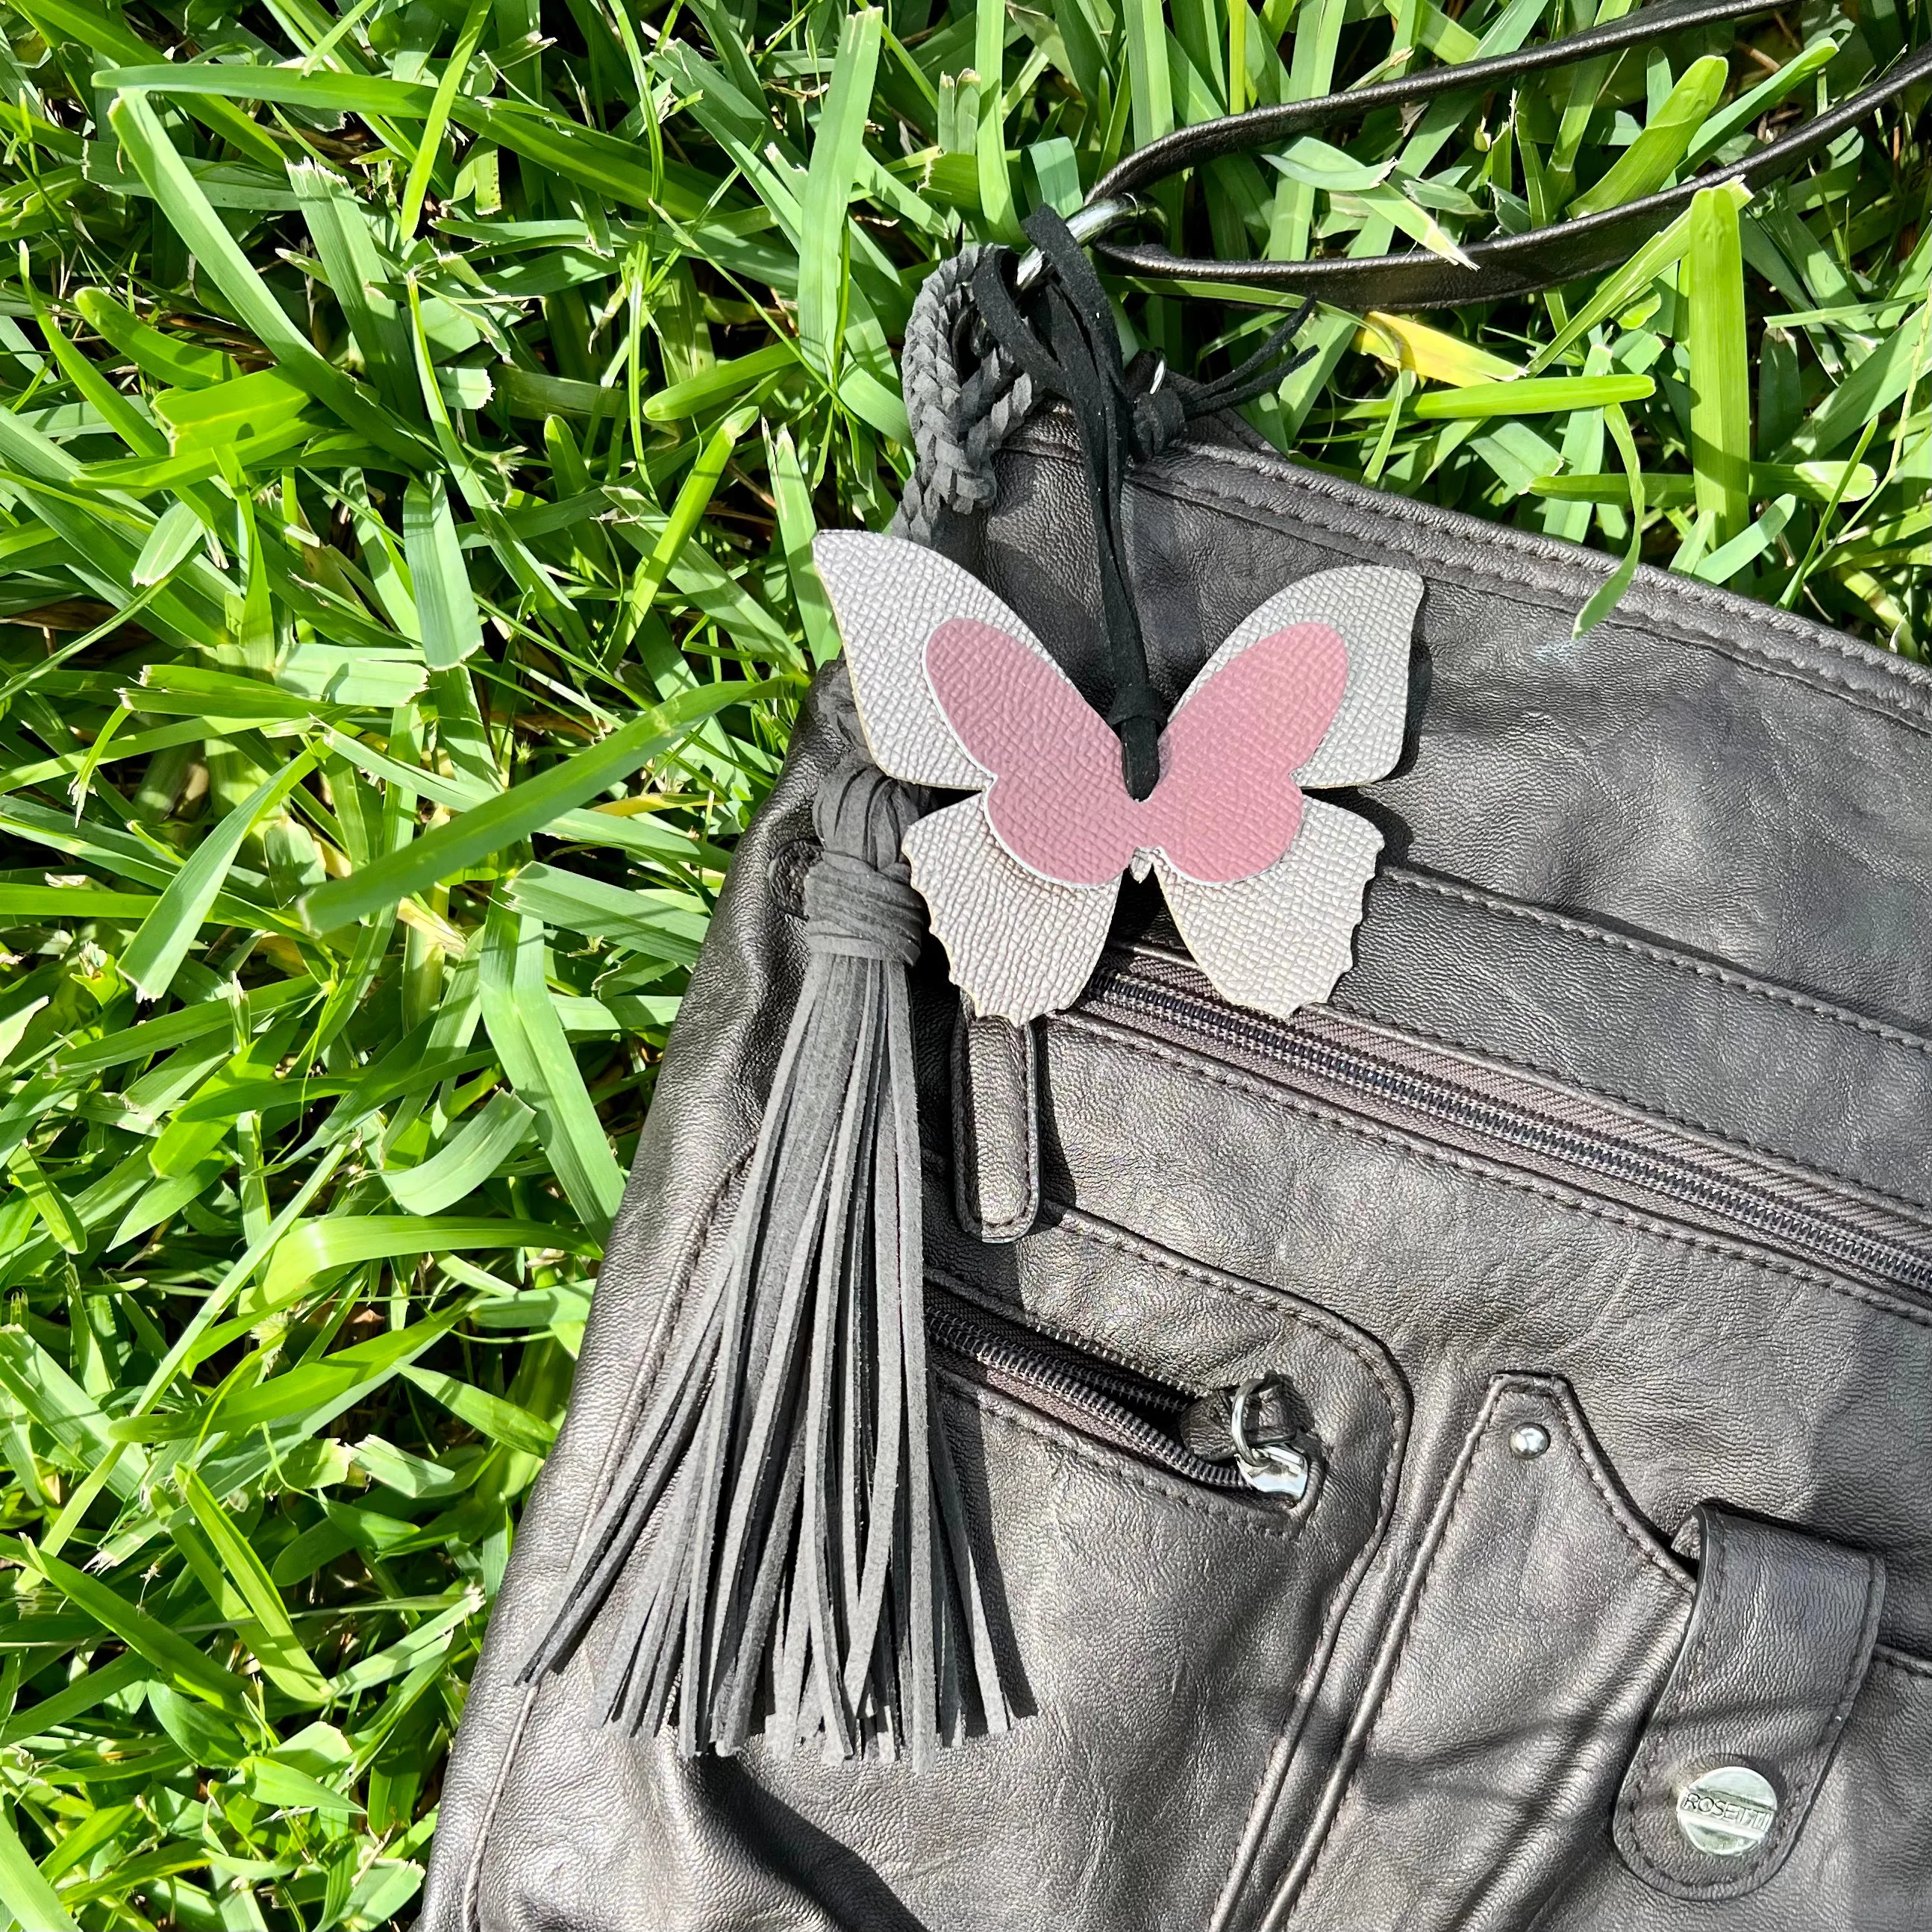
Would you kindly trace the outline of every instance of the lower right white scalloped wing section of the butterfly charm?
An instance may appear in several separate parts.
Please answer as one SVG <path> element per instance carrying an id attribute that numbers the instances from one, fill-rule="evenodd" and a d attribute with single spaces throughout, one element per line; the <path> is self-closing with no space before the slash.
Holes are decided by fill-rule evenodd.
<path id="1" fill-rule="evenodd" d="M 1236 1007 L 1289 1018 L 1349 970 L 1381 833 L 1310 798 L 1294 844 L 1265 871 L 1200 885 L 1161 862 L 1161 891 L 1194 962 Z"/>

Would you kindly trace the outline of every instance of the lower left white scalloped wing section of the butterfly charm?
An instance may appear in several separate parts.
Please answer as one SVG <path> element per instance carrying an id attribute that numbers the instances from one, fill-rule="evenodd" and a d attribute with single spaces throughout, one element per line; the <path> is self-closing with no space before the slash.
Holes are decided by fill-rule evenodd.
<path id="1" fill-rule="evenodd" d="M 1024 1026 L 1080 997 L 1107 943 L 1119 879 L 1041 879 L 993 835 L 983 798 L 929 811 L 906 833 L 906 860 L 974 1012 Z"/>

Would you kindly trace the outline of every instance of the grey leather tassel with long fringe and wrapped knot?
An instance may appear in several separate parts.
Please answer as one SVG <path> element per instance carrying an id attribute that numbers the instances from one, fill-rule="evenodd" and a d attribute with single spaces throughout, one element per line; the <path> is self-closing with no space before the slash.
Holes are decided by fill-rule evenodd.
<path id="1" fill-rule="evenodd" d="M 713 1287 L 524 1681 L 636 1569 L 605 1714 L 732 1754 L 769 1718 L 914 1766 L 1010 1721 L 985 1575 L 931 1414 L 906 972 L 925 908 L 904 788 L 852 755 L 815 802 L 810 964 Z"/>

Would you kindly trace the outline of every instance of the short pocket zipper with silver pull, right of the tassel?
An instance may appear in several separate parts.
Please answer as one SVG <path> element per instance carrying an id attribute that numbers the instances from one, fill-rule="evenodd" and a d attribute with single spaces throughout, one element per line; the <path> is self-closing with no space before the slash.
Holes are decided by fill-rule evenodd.
<path id="1" fill-rule="evenodd" d="M 1300 1499 L 1310 1482 L 1308 1457 L 1291 1445 L 1250 1445 L 1236 1422 L 1225 1461 L 1196 1455 L 1163 1428 L 1194 1405 L 1182 1389 L 1084 1356 L 1068 1345 L 1030 1333 L 962 1300 L 927 1291 L 925 1335 L 941 1366 L 1009 1395 L 1066 1428 L 1182 1482 L 1206 1490 L 1258 1490 Z M 1231 1391 L 1231 1416 L 1240 1416 L 1256 1385 Z"/>

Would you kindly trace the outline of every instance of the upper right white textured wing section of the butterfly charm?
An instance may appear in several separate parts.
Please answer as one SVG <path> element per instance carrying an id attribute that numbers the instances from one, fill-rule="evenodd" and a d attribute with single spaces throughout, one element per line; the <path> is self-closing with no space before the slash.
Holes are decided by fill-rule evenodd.
<path id="1" fill-rule="evenodd" d="M 1304 788 L 1368 784 L 1403 755 L 1408 653 L 1422 578 L 1387 564 L 1345 564 L 1277 591 L 1194 674 L 1180 705 L 1231 659 L 1291 624 L 1327 624 L 1349 651 L 1349 686 L 1327 736 L 1294 775 Z M 1175 709 L 1179 711 L 1180 705 Z"/>

